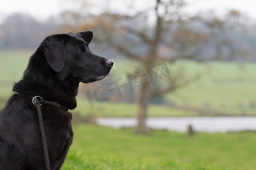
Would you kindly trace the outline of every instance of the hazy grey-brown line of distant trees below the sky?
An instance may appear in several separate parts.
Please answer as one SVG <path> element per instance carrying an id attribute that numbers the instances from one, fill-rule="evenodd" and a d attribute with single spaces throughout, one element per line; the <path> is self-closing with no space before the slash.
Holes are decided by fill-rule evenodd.
<path id="1" fill-rule="evenodd" d="M 97 32 L 94 38 L 99 39 L 98 37 L 100 36 L 97 35 L 106 35 L 106 29 L 105 31 L 100 29 L 102 24 L 106 24 L 103 21 L 108 20 L 110 23 L 117 24 L 118 20 L 120 24 L 120 19 L 117 18 L 122 18 L 122 16 L 119 15 L 117 17 L 115 15 L 115 19 L 113 14 L 110 16 L 108 13 L 89 16 L 90 19 L 94 19 L 94 26 L 92 27 L 92 24 L 86 23 L 85 26 L 88 28 L 81 27 L 81 23 L 84 22 L 82 18 L 88 18 L 88 16 L 75 15 L 73 12 L 63 12 L 50 17 L 46 22 L 39 22 L 39 20 L 28 14 L 11 14 L 0 24 L 0 49 L 35 49 L 46 36 L 52 33 L 84 31 L 84 29 L 93 29 L 92 31 Z M 92 23 L 91 20 L 90 22 Z M 126 22 L 126 30 L 124 29 L 128 38 L 126 41 L 129 40 L 131 42 L 136 39 L 139 33 L 135 33 L 135 29 L 142 29 L 142 27 L 148 26 L 142 24 L 145 23 L 143 15 L 129 16 L 129 18 L 123 19 L 122 22 Z M 195 59 L 197 60 L 256 61 L 256 23 L 243 16 L 239 11 L 229 11 L 224 19 L 217 18 L 214 12 L 209 11 L 206 15 L 198 14 L 186 20 L 186 23 L 182 22 L 184 20 L 177 20 L 171 24 L 172 28 L 167 28 L 169 27 L 167 26 L 168 24 L 164 25 L 164 29 L 169 29 L 169 31 L 164 32 L 162 36 L 166 39 L 172 39 L 173 42 L 168 43 L 172 44 L 172 48 L 175 48 L 176 52 L 185 56 L 187 55 L 185 53 L 194 53 L 193 55 L 196 55 Z M 133 25 L 133 28 L 128 28 L 127 25 Z M 124 28 L 124 25 L 120 24 L 120 26 Z M 151 29 L 153 28 L 151 27 Z M 112 39 L 117 41 L 117 44 L 122 44 L 123 39 L 119 36 L 119 33 L 114 33 L 113 31 Z M 144 36 L 142 32 L 139 34 L 141 34 L 139 36 Z M 150 29 L 148 34 L 152 36 Z M 217 41 L 218 43 L 215 43 Z M 98 40 L 98 42 L 102 46 L 108 46 L 104 44 L 106 41 Z M 164 41 L 161 43 L 166 44 Z M 147 46 L 143 44 L 136 46 L 133 50 L 135 53 L 143 54 L 145 48 Z M 198 50 L 199 48 L 204 48 L 204 50 Z M 111 56 L 115 56 L 112 55 L 114 53 L 113 50 L 106 51 L 104 47 L 97 49 L 100 54 L 108 53 Z M 170 55 L 168 54 L 168 49 L 169 46 L 166 45 L 161 47 L 165 56 Z M 118 50 L 123 51 L 124 49 L 119 47 Z M 210 53 L 212 56 L 207 56 L 205 53 Z M 175 53 L 172 52 L 172 55 L 174 56 Z M 187 57 L 189 56 L 187 55 Z"/>

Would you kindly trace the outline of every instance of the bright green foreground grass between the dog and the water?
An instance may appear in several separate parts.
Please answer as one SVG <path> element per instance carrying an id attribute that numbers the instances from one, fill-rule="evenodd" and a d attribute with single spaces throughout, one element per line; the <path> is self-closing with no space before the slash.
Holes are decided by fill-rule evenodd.
<path id="1" fill-rule="evenodd" d="M 254 169 L 256 133 L 185 133 L 94 125 L 74 128 L 74 140 L 62 169 Z"/>

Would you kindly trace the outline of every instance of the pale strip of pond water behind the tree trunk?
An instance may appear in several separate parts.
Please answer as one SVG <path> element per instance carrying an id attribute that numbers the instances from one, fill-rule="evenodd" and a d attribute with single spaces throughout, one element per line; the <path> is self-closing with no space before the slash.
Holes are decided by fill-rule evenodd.
<path id="1" fill-rule="evenodd" d="M 134 127 L 136 118 L 98 118 L 98 125 L 112 128 Z M 256 130 L 256 116 L 254 117 L 151 117 L 147 119 L 147 126 L 152 129 L 166 129 L 185 132 L 188 125 L 195 131 L 209 133 Z"/>

